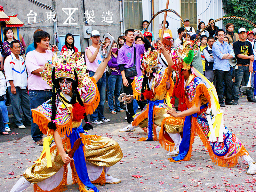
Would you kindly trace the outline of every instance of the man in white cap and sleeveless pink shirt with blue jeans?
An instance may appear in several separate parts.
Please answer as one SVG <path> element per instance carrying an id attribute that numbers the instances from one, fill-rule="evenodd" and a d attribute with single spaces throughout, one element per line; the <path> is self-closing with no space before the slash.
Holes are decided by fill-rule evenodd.
<path id="1" fill-rule="evenodd" d="M 86 56 L 85 62 L 87 69 L 89 70 L 89 75 L 92 77 L 97 68 L 100 66 L 103 58 L 102 55 L 99 53 L 100 50 L 100 32 L 97 30 L 93 30 L 91 33 L 92 45 L 85 49 Z M 106 85 L 107 85 L 107 76 L 106 76 L 106 69 L 103 73 L 103 76 L 97 82 L 98 90 L 100 92 L 100 103 L 97 109 L 90 115 L 90 119 L 94 124 L 102 124 L 104 122 L 110 121 L 104 117 L 104 103 L 106 100 Z"/>

